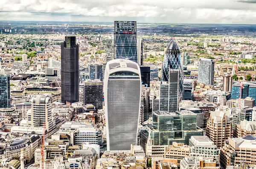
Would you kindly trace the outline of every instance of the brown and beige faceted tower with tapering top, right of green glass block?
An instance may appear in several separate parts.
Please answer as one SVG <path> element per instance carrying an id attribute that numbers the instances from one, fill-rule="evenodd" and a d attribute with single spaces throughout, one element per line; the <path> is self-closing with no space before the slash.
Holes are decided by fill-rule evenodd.
<path id="1" fill-rule="evenodd" d="M 215 110 L 210 113 L 206 135 L 218 148 L 224 146 L 226 140 L 232 137 L 232 125 L 225 112 Z"/>

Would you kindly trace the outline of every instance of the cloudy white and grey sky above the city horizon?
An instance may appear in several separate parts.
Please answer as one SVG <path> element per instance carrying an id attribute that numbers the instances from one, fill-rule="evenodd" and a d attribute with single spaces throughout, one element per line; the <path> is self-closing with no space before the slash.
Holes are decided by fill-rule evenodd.
<path id="1" fill-rule="evenodd" d="M 0 0 L 0 20 L 256 24 L 256 0 Z"/>

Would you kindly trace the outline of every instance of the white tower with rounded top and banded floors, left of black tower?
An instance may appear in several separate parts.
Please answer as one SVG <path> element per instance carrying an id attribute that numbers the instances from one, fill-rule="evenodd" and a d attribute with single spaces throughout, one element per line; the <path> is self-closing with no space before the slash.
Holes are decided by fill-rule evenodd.
<path id="1" fill-rule="evenodd" d="M 31 100 L 31 123 L 34 127 L 44 127 L 46 133 L 51 132 L 55 125 L 52 123 L 52 100 L 46 95 L 36 95 Z"/>

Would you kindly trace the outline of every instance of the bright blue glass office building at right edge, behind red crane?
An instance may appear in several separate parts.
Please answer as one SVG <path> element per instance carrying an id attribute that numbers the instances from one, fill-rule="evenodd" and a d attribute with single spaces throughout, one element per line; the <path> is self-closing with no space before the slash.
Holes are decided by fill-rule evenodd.
<path id="1" fill-rule="evenodd" d="M 232 86 L 231 99 L 240 98 L 240 88 L 241 88 L 241 99 L 246 97 L 251 97 L 256 99 L 256 81 L 253 82 L 243 82 L 243 87 L 241 88 L 241 83 L 236 82 Z"/>

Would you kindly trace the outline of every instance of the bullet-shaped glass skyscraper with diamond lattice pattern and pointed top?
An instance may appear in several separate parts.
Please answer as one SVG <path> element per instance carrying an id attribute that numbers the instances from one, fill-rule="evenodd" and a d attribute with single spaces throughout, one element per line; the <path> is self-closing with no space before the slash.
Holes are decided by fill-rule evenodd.
<path id="1" fill-rule="evenodd" d="M 178 101 L 182 100 L 183 95 L 183 67 L 180 55 L 180 49 L 175 40 L 172 40 L 167 46 L 166 53 L 163 57 L 163 66 L 161 80 L 169 82 L 169 69 L 180 70 L 179 77 L 179 98 Z"/>

